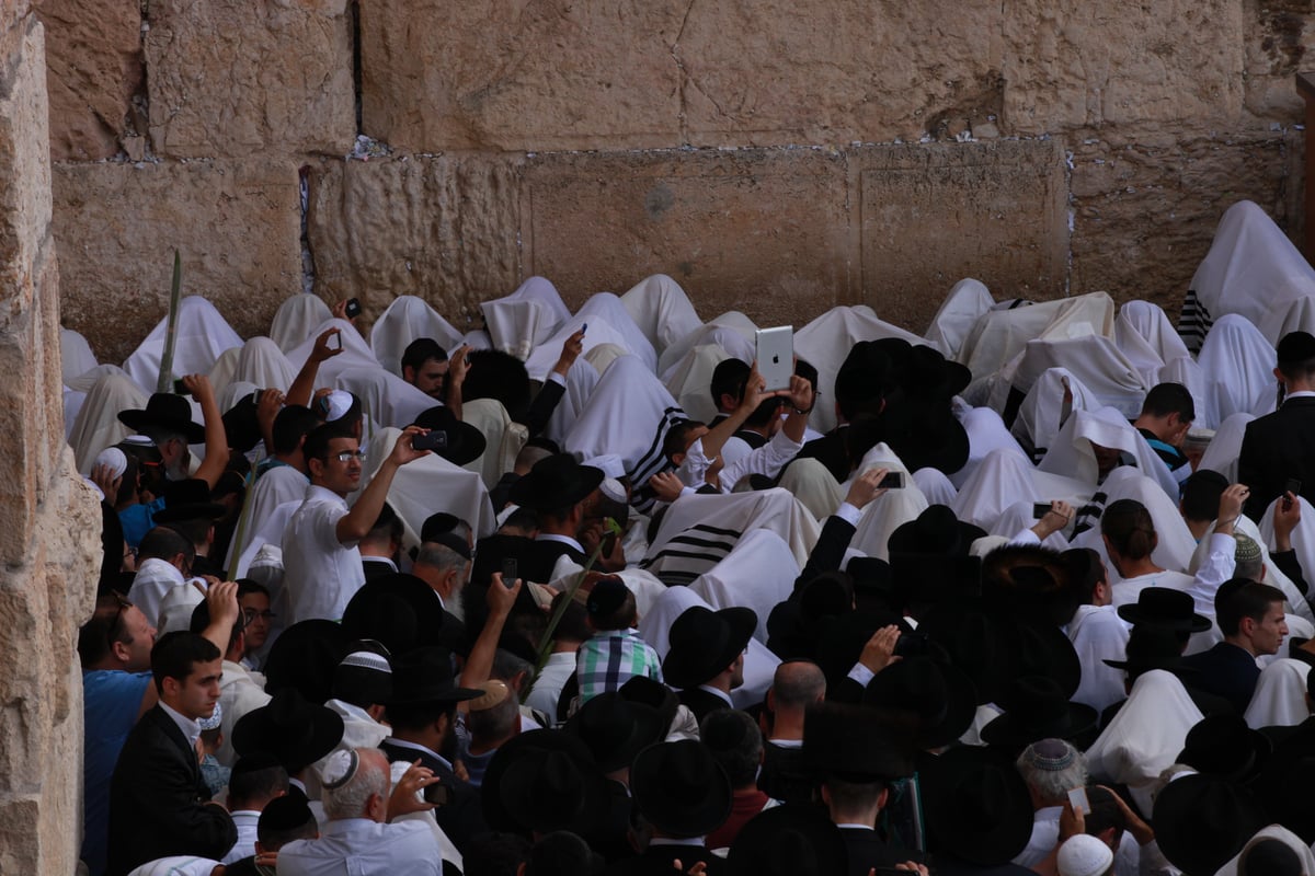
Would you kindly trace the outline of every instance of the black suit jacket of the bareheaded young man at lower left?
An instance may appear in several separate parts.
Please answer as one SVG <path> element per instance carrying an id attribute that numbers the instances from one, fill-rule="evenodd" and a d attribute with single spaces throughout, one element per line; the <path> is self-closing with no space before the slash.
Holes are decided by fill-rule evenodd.
<path id="1" fill-rule="evenodd" d="M 206 802 L 196 750 L 156 705 L 128 734 L 109 781 L 109 876 L 170 855 L 218 860 L 238 841 L 229 813 Z"/>

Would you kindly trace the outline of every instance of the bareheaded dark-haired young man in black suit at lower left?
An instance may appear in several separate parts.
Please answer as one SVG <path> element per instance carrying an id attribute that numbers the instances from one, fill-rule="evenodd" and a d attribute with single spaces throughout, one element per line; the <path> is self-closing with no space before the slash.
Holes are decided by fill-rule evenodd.
<path id="1" fill-rule="evenodd" d="M 218 860 L 237 842 L 227 810 L 201 779 L 197 721 L 220 701 L 222 655 L 196 633 L 175 632 L 151 649 L 159 703 L 128 735 L 109 785 L 109 876 L 170 855 Z"/>

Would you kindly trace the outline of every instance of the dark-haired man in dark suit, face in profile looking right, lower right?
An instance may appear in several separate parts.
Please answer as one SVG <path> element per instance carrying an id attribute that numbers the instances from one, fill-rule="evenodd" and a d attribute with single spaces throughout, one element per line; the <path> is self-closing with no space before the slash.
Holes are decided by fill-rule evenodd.
<path id="1" fill-rule="evenodd" d="M 1224 697 L 1241 714 L 1260 679 L 1256 658 L 1277 654 L 1287 636 L 1283 591 L 1247 578 L 1226 580 L 1215 595 L 1215 623 L 1224 641 L 1185 657 L 1182 665 L 1195 671 L 1198 688 Z"/>

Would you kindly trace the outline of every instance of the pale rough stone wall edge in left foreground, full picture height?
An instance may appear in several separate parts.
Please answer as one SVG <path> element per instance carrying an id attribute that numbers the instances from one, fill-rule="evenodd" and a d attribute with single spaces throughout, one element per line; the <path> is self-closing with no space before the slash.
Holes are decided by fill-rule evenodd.
<path id="1" fill-rule="evenodd" d="M 71 873 L 100 514 L 63 441 L 43 28 L 0 12 L 0 873 Z"/>

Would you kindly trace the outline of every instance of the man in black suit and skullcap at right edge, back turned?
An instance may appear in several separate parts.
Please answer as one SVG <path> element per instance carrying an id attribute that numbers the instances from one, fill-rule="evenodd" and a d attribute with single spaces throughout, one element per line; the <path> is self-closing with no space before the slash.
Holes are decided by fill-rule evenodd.
<path id="1" fill-rule="evenodd" d="M 1301 481 L 1301 495 L 1315 502 L 1315 338 L 1283 335 L 1274 377 L 1283 401 L 1247 424 L 1237 457 L 1237 481 L 1251 487 L 1243 510 L 1252 520 L 1283 495 L 1289 479 Z"/>

